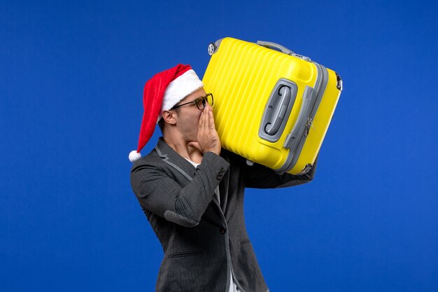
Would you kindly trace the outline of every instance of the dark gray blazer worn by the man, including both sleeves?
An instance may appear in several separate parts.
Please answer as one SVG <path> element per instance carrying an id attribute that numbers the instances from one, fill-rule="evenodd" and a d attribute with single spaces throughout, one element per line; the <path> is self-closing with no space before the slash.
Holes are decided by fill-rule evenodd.
<path id="1" fill-rule="evenodd" d="M 246 233 L 243 190 L 296 186 L 314 172 L 278 175 L 225 149 L 220 156 L 206 153 L 195 169 L 160 138 L 131 172 L 132 189 L 164 250 L 156 291 L 226 292 L 231 267 L 242 291 L 268 291 Z"/>

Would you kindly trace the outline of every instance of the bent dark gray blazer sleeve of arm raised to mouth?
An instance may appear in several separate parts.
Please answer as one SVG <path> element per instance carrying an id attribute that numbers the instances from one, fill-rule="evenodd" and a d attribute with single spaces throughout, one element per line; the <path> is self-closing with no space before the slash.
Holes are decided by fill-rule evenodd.
<path id="1" fill-rule="evenodd" d="M 132 190 L 143 210 L 185 227 L 199 224 L 214 190 L 229 168 L 220 156 L 208 152 L 185 186 L 157 165 L 143 164 L 131 172 Z"/>

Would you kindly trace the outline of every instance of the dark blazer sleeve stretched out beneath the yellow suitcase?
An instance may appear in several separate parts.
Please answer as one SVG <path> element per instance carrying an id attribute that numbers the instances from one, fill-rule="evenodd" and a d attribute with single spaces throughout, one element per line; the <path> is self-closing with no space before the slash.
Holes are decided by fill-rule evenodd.
<path id="1" fill-rule="evenodd" d="M 298 186 L 303 183 L 309 183 L 315 176 L 316 162 L 313 164 L 312 169 L 302 175 L 294 174 L 277 174 L 274 170 L 269 169 L 263 165 L 254 163 L 253 166 L 248 166 L 244 163 L 245 174 L 245 186 L 247 188 L 285 188 L 288 186 Z"/>

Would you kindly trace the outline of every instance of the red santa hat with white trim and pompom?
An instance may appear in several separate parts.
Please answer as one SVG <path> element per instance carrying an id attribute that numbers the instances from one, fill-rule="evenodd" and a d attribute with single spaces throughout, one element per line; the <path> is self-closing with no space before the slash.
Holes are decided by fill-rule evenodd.
<path id="1" fill-rule="evenodd" d="M 163 111 L 169 111 L 192 92 L 202 88 L 190 65 L 178 64 L 167 69 L 146 82 L 143 90 L 143 120 L 141 121 L 139 146 L 129 153 L 129 160 L 134 162 L 141 158 L 140 151 L 148 143 L 155 130 L 155 124 L 162 118 Z"/>

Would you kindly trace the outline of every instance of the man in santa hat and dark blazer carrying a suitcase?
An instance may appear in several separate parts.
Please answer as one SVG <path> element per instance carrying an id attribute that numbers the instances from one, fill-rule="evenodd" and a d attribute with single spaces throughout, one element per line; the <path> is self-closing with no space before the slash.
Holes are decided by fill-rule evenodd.
<path id="1" fill-rule="evenodd" d="M 155 288 L 266 292 L 246 233 L 244 189 L 306 183 L 315 167 L 302 176 L 278 175 L 221 149 L 214 97 L 203 87 L 190 66 L 179 64 L 153 76 L 143 92 L 139 148 L 129 159 L 132 189 L 164 250 Z M 139 158 L 155 123 L 163 136 Z"/>

